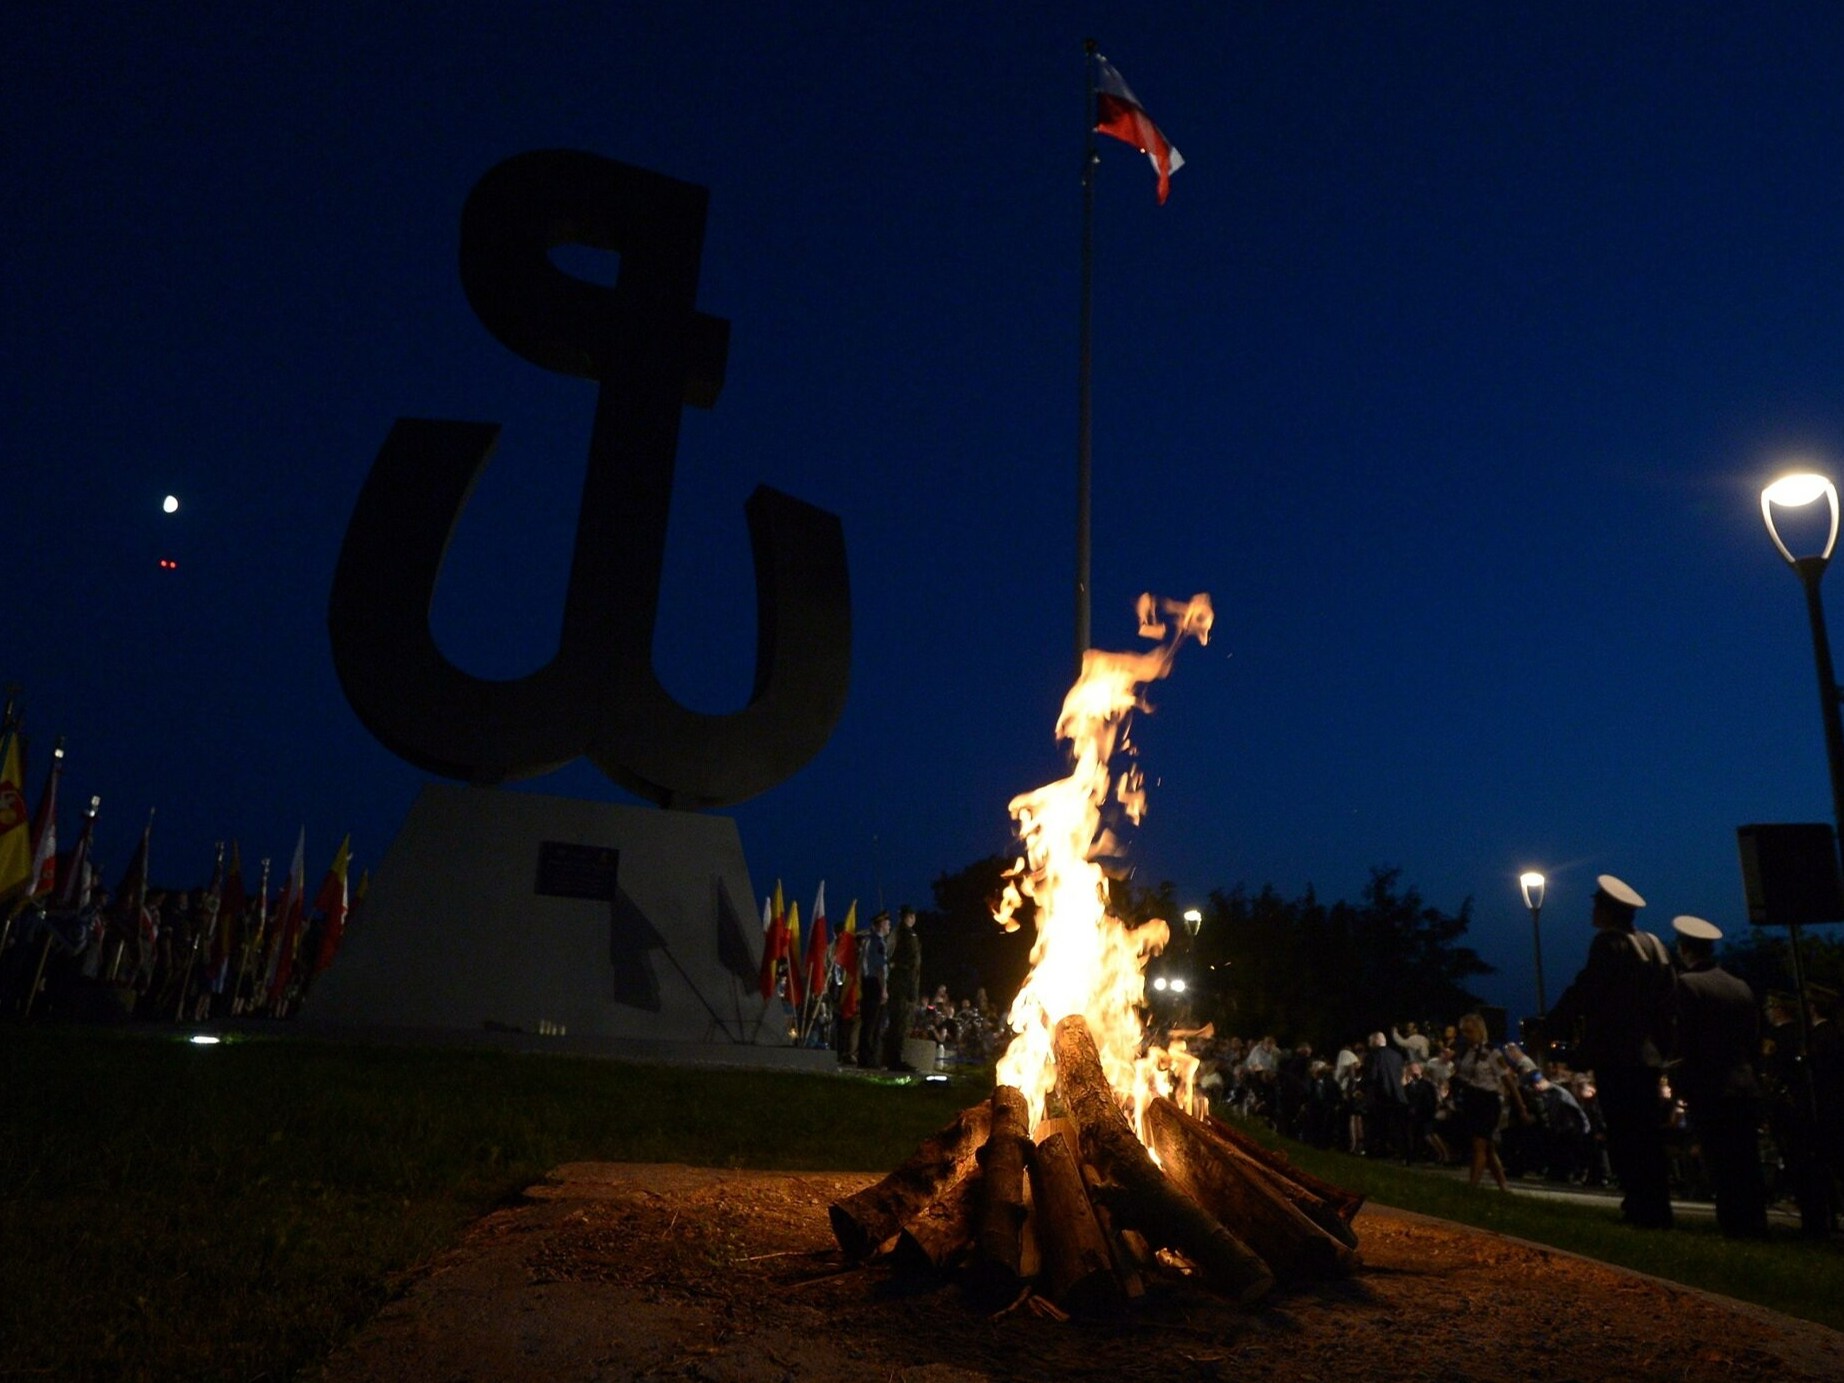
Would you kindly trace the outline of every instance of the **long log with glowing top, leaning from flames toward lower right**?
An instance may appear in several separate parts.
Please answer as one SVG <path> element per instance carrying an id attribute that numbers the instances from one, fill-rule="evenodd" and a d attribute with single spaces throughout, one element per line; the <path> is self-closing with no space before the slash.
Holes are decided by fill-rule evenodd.
<path id="1" fill-rule="evenodd" d="M 1254 1302 L 1274 1285 L 1274 1274 L 1248 1245 L 1210 1212 L 1178 1191 L 1152 1164 L 1114 1101 L 1101 1055 L 1081 1014 L 1057 1023 L 1057 1095 L 1081 1129 L 1082 1162 L 1093 1164 L 1105 1184 L 1097 1202 L 1121 1228 L 1140 1230 L 1152 1245 L 1191 1259 L 1217 1291 Z"/>

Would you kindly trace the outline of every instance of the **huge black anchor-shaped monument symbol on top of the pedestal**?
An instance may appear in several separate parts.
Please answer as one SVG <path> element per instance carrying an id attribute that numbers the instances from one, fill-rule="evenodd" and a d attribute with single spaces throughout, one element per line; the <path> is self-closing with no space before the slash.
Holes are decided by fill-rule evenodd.
<path id="1" fill-rule="evenodd" d="M 756 680 L 728 715 L 686 710 L 653 671 L 679 415 L 723 387 L 728 323 L 697 312 L 704 188 L 570 149 L 492 168 L 461 212 L 461 282 L 511 350 L 599 382 L 557 655 L 514 680 L 455 668 L 430 632 L 454 526 L 494 422 L 398 419 L 347 527 L 328 607 L 347 701 L 395 754 L 478 784 L 586 754 L 669 808 L 728 806 L 793 774 L 845 708 L 852 609 L 835 514 L 769 487 L 745 503 Z M 614 288 L 548 251 L 621 256 Z"/>

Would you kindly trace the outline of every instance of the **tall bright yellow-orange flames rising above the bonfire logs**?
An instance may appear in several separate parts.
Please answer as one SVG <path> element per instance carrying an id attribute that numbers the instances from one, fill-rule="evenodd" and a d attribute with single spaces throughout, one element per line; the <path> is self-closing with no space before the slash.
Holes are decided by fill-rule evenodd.
<path id="1" fill-rule="evenodd" d="M 1103 861 L 1117 845 L 1103 826 L 1103 811 L 1112 800 L 1134 824 L 1145 815 L 1145 776 L 1130 762 L 1116 776 L 1112 760 L 1134 758 L 1132 712 L 1151 712 L 1143 688 L 1171 671 L 1188 638 L 1208 644 L 1215 616 L 1210 596 L 1189 601 L 1141 596 L 1138 616 L 1141 638 L 1158 644 L 1140 653 L 1088 649 L 1062 701 L 1057 738 L 1070 741 L 1070 774 L 1011 802 L 1023 854 L 1007 870 L 994 918 L 1016 931 L 1016 913 L 1029 898 L 1036 904 L 1038 935 L 1031 974 L 1011 1007 L 1014 1036 L 999 1057 L 998 1079 L 1023 1093 L 1033 1123 L 1044 1117 L 1057 1082 L 1051 1033 L 1070 1014 L 1088 1022 L 1101 1070 L 1132 1110 L 1136 1127 L 1154 1095 L 1191 1105 L 1197 1058 L 1186 1044 L 1175 1040 L 1171 1051 L 1141 1051 L 1145 963 L 1165 948 L 1171 928 L 1156 918 L 1132 928 L 1108 913 Z"/>

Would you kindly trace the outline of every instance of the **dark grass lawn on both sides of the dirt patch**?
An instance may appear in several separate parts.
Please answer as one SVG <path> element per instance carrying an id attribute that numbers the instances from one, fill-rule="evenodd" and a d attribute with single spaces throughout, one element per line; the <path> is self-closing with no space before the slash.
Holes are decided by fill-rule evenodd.
<path id="1" fill-rule="evenodd" d="M 990 1071 L 905 1086 L 68 1027 L 0 1029 L 0 1377 L 284 1379 L 561 1162 L 887 1171 L 990 1092 Z M 1837 1243 L 1641 1234 L 1612 1210 L 1289 1152 L 1383 1204 L 1844 1328 Z"/>

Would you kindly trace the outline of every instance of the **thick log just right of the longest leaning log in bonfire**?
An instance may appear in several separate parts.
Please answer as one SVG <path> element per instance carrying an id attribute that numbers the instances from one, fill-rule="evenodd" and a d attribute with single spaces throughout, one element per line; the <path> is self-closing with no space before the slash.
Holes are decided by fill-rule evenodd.
<path id="1" fill-rule="evenodd" d="M 1197 1204 L 1234 1224 L 1283 1282 L 1313 1282 L 1350 1271 L 1352 1250 L 1331 1237 L 1258 1164 L 1169 1099 L 1147 1105 L 1147 1140 L 1158 1165 Z"/>

